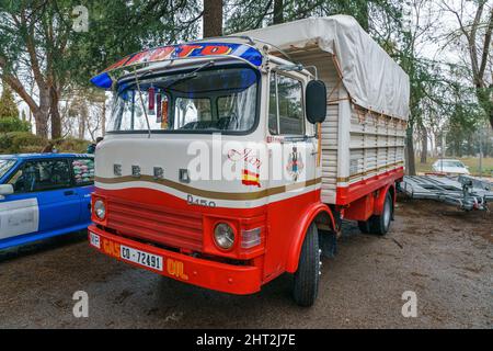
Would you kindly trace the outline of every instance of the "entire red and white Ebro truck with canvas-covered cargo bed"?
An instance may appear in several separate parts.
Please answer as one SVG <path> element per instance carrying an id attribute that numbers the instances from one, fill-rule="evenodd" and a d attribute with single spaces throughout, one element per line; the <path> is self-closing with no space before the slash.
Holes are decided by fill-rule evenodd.
<path id="1" fill-rule="evenodd" d="M 388 233 L 409 78 L 353 18 L 148 49 L 92 82 L 115 95 L 95 152 L 101 252 L 241 295 L 293 273 L 310 306 L 342 219 Z"/>

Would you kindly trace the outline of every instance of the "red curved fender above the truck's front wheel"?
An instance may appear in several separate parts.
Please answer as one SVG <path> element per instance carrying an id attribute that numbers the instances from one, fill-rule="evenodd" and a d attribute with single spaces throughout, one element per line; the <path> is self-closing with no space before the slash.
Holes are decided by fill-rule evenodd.
<path id="1" fill-rule="evenodd" d="M 298 270 L 298 261 L 299 256 L 301 254 L 301 248 L 303 246 L 305 236 L 307 235 L 307 230 L 310 227 L 310 225 L 313 223 L 313 220 L 321 214 L 328 214 L 331 219 L 332 228 L 335 228 L 335 220 L 334 216 L 332 215 L 331 208 L 323 204 L 318 203 L 309 206 L 305 215 L 301 219 L 301 223 L 298 228 L 300 228 L 300 231 L 295 236 L 295 238 L 291 241 L 291 246 L 288 251 L 288 258 L 287 258 L 287 264 L 286 264 L 286 271 L 288 273 L 295 273 Z"/>

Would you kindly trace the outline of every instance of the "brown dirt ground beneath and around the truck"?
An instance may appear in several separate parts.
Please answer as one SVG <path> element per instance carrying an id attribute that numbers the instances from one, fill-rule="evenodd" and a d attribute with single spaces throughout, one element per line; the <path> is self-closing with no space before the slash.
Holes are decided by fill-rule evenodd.
<path id="1" fill-rule="evenodd" d="M 401 199 L 385 238 L 345 226 L 313 308 L 285 275 L 230 296 L 116 262 L 73 235 L 0 254 L 0 328 L 492 328 L 493 214 Z M 72 294 L 89 294 L 89 318 Z M 401 314 L 417 295 L 417 318 Z"/>

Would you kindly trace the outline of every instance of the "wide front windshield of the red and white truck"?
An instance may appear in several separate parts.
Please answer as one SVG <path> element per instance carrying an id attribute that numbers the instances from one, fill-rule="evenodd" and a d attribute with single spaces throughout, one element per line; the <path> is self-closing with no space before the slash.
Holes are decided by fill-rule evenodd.
<path id="1" fill-rule="evenodd" d="M 122 82 L 115 94 L 108 132 L 231 133 L 255 125 L 257 72 L 214 68 Z M 140 95 L 141 94 L 141 95 Z"/>

